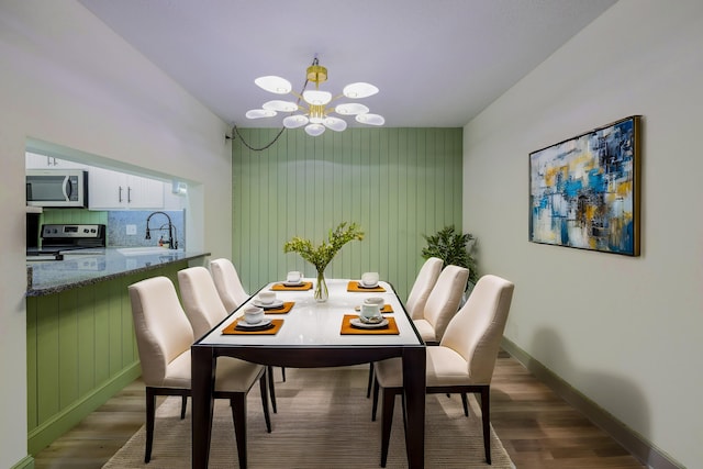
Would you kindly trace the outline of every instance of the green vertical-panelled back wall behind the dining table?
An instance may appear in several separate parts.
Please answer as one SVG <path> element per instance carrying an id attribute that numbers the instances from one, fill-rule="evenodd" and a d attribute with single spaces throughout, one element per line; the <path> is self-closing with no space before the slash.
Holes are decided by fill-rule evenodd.
<path id="1" fill-rule="evenodd" d="M 263 147 L 279 129 L 238 129 Z M 253 292 L 289 270 L 314 276 L 283 243 L 320 243 L 339 222 L 357 222 L 361 242 L 345 246 L 327 277 L 379 271 L 405 299 L 424 263 L 423 235 L 461 227 L 461 129 L 348 129 L 311 137 L 287 130 L 263 152 L 233 141 L 232 257 Z"/>

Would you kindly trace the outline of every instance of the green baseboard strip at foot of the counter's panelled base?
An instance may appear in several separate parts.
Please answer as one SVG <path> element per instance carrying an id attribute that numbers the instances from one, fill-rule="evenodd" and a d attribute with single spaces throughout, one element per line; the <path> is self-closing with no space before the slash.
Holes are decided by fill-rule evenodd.
<path id="1" fill-rule="evenodd" d="M 129 383 L 142 375 L 140 362 L 136 361 L 124 368 L 121 372 L 105 381 L 100 388 L 96 388 L 90 394 L 76 401 L 72 405 L 54 415 L 51 420 L 32 429 L 27 434 L 27 451 L 36 455 L 46 448 L 56 438 L 71 429 L 81 420 L 90 415 L 110 398 L 124 389 Z M 33 466 L 33 465 L 32 465 Z"/>

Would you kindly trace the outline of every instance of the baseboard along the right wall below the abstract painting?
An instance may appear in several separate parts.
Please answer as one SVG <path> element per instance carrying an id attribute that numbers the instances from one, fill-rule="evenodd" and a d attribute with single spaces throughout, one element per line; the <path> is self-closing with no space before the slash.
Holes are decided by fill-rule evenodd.
<path id="1" fill-rule="evenodd" d="M 657 449 L 637 432 L 623 424 L 613 414 L 576 390 L 554 371 L 515 345 L 515 343 L 503 337 L 501 345 L 505 351 L 527 368 L 527 370 L 539 381 L 545 383 L 557 395 L 581 412 L 594 425 L 602 428 L 613 439 L 623 445 L 623 447 L 643 465 L 652 469 L 684 469 L 683 466 L 677 464 L 672 458 Z"/>

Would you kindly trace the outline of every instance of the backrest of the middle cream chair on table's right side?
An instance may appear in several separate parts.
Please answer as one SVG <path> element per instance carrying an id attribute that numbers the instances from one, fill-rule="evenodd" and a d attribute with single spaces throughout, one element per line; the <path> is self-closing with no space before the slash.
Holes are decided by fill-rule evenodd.
<path id="1" fill-rule="evenodd" d="M 435 337 L 442 340 L 451 317 L 459 310 L 461 295 L 469 279 L 469 269 L 459 266 L 447 266 L 439 273 L 437 282 L 427 297 L 423 317 L 435 330 Z"/>

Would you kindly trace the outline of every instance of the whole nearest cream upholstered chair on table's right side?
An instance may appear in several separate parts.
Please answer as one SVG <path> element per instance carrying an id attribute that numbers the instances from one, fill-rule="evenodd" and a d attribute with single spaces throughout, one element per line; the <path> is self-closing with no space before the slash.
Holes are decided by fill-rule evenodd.
<path id="1" fill-rule="evenodd" d="M 481 277 L 461 311 L 451 319 L 439 345 L 426 347 L 427 393 L 480 395 L 483 449 L 489 465 L 491 380 L 514 289 L 512 282 L 500 277 Z M 381 467 L 386 467 L 395 395 L 403 390 L 402 361 L 378 361 L 375 368 L 375 400 L 379 386 L 382 389 Z"/>

